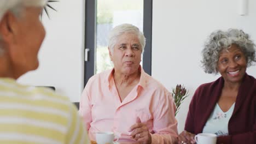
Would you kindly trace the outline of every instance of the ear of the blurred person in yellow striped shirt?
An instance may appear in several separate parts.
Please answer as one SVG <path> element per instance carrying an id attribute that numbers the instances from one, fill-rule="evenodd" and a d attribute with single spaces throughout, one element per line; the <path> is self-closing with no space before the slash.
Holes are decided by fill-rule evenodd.
<path id="1" fill-rule="evenodd" d="M 17 19 L 13 13 L 8 11 L 0 21 L 1 38 L 5 43 L 15 43 L 15 32 L 17 28 Z"/>

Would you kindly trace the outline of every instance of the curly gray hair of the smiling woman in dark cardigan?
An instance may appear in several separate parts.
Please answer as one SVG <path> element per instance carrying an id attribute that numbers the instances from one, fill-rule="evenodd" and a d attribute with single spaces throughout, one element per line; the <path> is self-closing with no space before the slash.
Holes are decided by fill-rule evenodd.
<path id="1" fill-rule="evenodd" d="M 205 43 L 205 48 L 202 50 L 202 68 L 205 73 L 218 74 L 217 63 L 219 53 L 223 49 L 229 49 L 232 44 L 245 54 L 247 67 L 256 62 L 255 59 L 255 44 L 249 38 L 249 35 L 239 29 L 228 29 L 228 31 L 216 31 L 211 33 Z"/>

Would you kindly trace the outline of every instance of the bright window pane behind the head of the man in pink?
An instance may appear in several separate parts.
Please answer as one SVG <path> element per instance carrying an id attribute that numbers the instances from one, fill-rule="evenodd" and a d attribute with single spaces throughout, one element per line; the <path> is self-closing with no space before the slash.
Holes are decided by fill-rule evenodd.
<path id="1" fill-rule="evenodd" d="M 143 31 L 143 0 L 97 1 L 96 73 L 113 68 L 108 54 L 108 33 L 121 23 L 131 23 Z"/>

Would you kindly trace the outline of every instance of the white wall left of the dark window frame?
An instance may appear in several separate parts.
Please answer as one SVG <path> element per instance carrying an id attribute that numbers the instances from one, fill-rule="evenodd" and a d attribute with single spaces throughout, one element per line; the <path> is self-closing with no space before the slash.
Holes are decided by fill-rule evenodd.
<path id="1" fill-rule="evenodd" d="M 61 0 L 51 3 L 57 10 L 44 13 L 46 30 L 39 51 L 39 68 L 20 77 L 20 83 L 34 86 L 54 86 L 56 92 L 79 101 L 84 73 L 84 4 L 81 0 Z"/>

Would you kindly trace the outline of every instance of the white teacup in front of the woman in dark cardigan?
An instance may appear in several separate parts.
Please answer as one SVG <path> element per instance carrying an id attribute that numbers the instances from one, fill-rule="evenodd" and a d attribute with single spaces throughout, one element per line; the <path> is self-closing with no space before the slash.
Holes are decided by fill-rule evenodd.
<path id="1" fill-rule="evenodd" d="M 216 144 L 217 135 L 208 133 L 197 134 L 195 136 L 195 141 L 197 144 Z"/>

